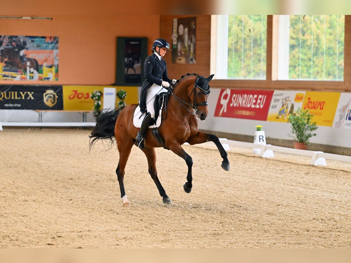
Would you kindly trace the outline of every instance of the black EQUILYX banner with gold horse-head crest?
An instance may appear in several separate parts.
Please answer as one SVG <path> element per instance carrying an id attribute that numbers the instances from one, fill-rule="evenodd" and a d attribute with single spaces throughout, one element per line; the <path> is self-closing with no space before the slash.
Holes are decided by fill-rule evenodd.
<path id="1" fill-rule="evenodd" d="M 0 86 L 0 109 L 62 110 L 62 86 Z"/>

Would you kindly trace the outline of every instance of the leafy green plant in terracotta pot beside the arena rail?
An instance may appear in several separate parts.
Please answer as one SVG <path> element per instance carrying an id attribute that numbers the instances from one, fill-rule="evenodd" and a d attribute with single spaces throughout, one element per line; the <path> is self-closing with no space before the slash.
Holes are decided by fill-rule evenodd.
<path id="1" fill-rule="evenodd" d="M 301 108 L 288 116 L 288 122 L 291 124 L 291 134 L 288 135 L 297 140 L 294 143 L 296 149 L 306 150 L 311 137 L 317 135 L 313 131 L 317 130 L 318 126 L 316 122 L 312 122 L 312 117 L 313 114 Z"/>

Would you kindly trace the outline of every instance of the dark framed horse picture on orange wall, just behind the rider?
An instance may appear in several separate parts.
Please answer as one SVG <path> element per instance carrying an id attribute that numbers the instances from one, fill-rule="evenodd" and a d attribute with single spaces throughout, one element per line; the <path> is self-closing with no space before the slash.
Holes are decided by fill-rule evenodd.
<path id="1" fill-rule="evenodd" d="M 144 61 L 147 38 L 117 37 L 116 86 L 141 86 L 144 82 Z"/>

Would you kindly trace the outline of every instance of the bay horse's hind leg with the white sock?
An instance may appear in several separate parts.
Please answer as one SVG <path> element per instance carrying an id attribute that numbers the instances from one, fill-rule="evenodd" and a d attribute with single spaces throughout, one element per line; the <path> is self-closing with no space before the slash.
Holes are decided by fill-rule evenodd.
<path id="1" fill-rule="evenodd" d="M 117 139 L 117 138 L 116 138 Z M 123 206 L 124 207 L 130 207 L 131 203 L 127 199 L 126 191 L 124 190 L 124 169 L 126 167 L 128 157 L 131 153 L 133 147 L 133 141 L 118 141 L 117 142 L 117 148 L 119 151 L 119 162 L 118 166 L 116 169 L 116 174 L 118 178 L 118 183 L 119 183 L 119 189 L 121 190 L 121 199 L 123 201 Z"/>

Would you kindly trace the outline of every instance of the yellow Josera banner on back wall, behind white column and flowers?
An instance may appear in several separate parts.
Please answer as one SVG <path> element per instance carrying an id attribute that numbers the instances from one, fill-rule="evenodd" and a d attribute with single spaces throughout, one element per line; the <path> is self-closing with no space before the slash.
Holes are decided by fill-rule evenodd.
<path id="1" fill-rule="evenodd" d="M 116 88 L 116 92 L 123 89 L 127 92 L 126 98 L 123 100 L 127 105 L 139 102 L 138 88 L 129 86 L 62 86 L 63 100 L 65 110 L 93 110 L 94 101 L 90 98 L 92 92 L 100 90 L 104 93 L 104 88 Z M 116 107 L 120 99 L 116 96 Z M 101 106 L 104 98 L 102 97 Z"/>

